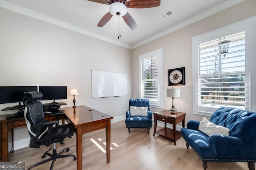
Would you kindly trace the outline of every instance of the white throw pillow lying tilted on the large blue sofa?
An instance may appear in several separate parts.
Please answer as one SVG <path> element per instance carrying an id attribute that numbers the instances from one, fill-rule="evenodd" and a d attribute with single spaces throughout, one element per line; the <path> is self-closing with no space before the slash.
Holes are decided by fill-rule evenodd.
<path id="1" fill-rule="evenodd" d="M 229 132 L 229 128 L 225 128 L 220 125 L 215 125 L 214 123 L 208 121 L 205 117 L 200 122 L 198 129 L 201 132 L 207 134 L 208 136 L 211 136 L 213 134 L 223 134 L 228 136 Z"/>

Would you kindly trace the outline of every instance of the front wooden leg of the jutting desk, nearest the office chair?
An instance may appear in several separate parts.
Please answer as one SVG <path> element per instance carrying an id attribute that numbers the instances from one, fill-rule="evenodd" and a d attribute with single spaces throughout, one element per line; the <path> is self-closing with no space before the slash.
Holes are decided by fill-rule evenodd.
<path id="1" fill-rule="evenodd" d="M 76 128 L 76 169 L 82 170 L 82 127 Z"/>

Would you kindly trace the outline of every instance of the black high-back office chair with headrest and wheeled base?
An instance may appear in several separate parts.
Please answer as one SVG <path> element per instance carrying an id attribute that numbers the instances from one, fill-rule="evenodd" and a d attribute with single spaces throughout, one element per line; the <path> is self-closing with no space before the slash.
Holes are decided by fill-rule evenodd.
<path id="1" fill-rule="evenodd" d="M 65 150 L 68 152 L 68 147 L 62 149 L 59 153 L 56 153 L 55 144 L 56 142 L 64 144 L 64 138 L 71 138 L 74 135 L 74 131 L 70 128 L 69 125 L 59 125 L 53 127 L 54 125 L 58 124 L 58 121 L 49 122 L 48 120 L 44 119 L 43 106 L 42 103 L 39 101 L 40 99 L 42 99 L 42 93 L 38 91 L 31 91 L 25 92 L 24 94 L 24 117 L 30 135 L 30 148 L 40 148 L 40 145 L 53 145 L 52 154 L 48 153 L 52 148 L 51 146 L 50 149 L 46 151 L 42 156 L 42 159 L 45 158 L 46 155 L 50 156 L 50 158 L 30 166 L 28 170 L 50 160 L 52 160 L 52 165 L 50 167 L 50 170 L 52 170 L 54 161 L 56 161 L 57 158 L 72 156 L 74 157 L 73 159 L 76 160 L 76 156 L 72 154 L 60 155 Z"/>

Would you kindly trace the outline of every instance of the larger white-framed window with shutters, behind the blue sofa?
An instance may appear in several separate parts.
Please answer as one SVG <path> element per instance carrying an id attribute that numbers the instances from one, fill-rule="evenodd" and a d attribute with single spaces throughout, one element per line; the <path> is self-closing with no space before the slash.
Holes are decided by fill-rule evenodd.
<path id="1" fill-rule="evenodd" d="M 232 24 L 192 39 L 193 113 L 208 115 L 222 106 L 252 110 L 256 74 L 249 27 Z"/>

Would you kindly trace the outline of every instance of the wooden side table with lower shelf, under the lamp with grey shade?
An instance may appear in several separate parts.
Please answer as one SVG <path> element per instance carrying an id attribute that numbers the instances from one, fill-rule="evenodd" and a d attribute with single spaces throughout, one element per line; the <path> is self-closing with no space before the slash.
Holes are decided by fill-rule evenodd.
<path id="1" fill-rule="evenodd" d="M 175 117 L 176 116 L 176 117 Z M 154 113 L 154 134 L 160 134 L 167 138 L 174 140 L 174 145 L 176 145 L 176 139 L 182 136 L 181 132 L 176 130 L 177 123 L 182 122 L 182 127 L 185 127 L 185 116 L 186 113 L 176 112 L 175 116 L 170 113 L 169 110 L 162 110 L 159 113 Z M 164 128 L 156 131 L 157 121 L 164 122 Z M 172 129 L 166 127 L 166 123 L 172 124 Z"/>

